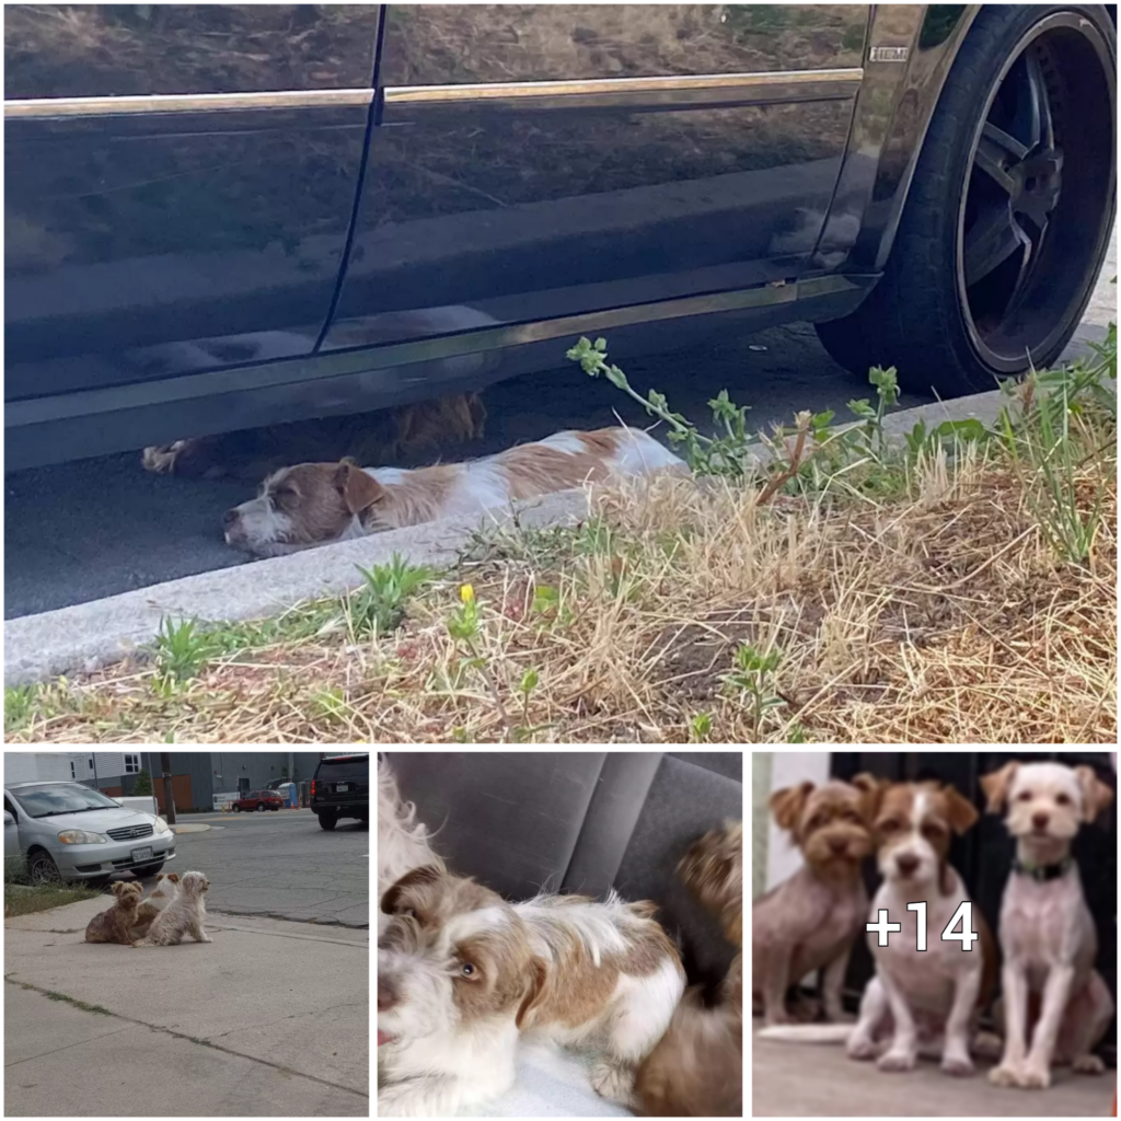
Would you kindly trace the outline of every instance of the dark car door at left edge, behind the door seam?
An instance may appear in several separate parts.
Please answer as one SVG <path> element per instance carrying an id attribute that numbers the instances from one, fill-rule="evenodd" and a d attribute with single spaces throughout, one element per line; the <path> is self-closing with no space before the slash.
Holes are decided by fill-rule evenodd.
<path id="1" fill-rule="evenodd" d="M 215 407 L 213 381 L 168 389 L 206 371 L 251 388 L 230 371 L 314 349 L 378 19 L 377 4 L 4 7 L 9 466 L 269 419 L 243 397 Z M 77 423 L 99 411 L 100 429 Z"/>

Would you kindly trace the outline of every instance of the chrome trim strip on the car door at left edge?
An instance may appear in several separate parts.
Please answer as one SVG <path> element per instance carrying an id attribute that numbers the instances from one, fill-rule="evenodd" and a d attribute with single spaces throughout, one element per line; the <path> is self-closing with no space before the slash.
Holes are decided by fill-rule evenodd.
<path id="1" fill-rule="evenodd" d="M 318 109 L 369 105 L 373 90 L 275 90 L 262 93 L 154 93 L 128 98 L 31 98 L 6 101 L 10 120 L 59 117 L 132 117 L 145 113 L 209 113 L 231 109 Z"/>

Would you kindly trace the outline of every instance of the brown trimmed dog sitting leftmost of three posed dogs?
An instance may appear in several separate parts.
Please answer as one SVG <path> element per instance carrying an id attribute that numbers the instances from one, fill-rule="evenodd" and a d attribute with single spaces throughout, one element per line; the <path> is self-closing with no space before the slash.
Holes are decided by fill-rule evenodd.
<path id="1" fill-rule="evenodd" d="M 872 852 L 877 787 L 858 775 L 851 785 L 802 782 L 771 795 L 776 823 L 806 863 L 751 908 L 752 999 L 761 1000 L 768 1026 L 790 1022 L 786 991 L 814 970 L 824 970 L 826 1018 L 842 1017 L 849 955 L 868 921 L 860 867 Z"/>

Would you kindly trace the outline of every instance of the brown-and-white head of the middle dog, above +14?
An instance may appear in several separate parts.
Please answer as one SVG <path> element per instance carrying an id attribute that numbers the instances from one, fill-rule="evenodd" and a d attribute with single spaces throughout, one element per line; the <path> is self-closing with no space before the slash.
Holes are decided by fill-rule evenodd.
<path id="1" fill-rule="evenodd" d="M 949 843 L 976 822 L 973 804 L 942 782 L 895 782 L 879 791 L 876 840 L 880 873 L 910 888 L 949 891 Z"/>

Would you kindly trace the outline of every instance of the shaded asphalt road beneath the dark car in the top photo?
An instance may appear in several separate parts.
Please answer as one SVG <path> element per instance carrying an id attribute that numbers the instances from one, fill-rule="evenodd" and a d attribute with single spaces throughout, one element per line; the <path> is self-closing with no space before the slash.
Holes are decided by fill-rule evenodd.
<path id="1" fill-rule="evenodd" d="M 1117 241 L 1094 300 L 1068 353 L 1097 341 L 1117 316 Z M 796 323 L 735 340 L 714 339 L 687 352 L 667 351 L 628 363 L 641 392 L 658 389 L 670 407 L 700 421 L 706 401 L 726 388 L 751 407 L 752 428 L 788 421 L 800 409 L 847 416 L 867 382 L 833 362 L 812 326 Z M 900 408 L 930 400 L 904 395 Z M 488 390 L 488 437 L 480 454 L 539 439 L 562 428 L 647 423 L 642 409 L 605 381 L 573 364 L 511 379 Z M 242 483 L 150 475 L 139 453 L 17 472 L 6 480 L 4 618 L 49 611 L 161 581 L 252 563 L 230 549 L 221 515 L 252 497 Z M 213 889 L 212 889 L 213 890 Z"/>

